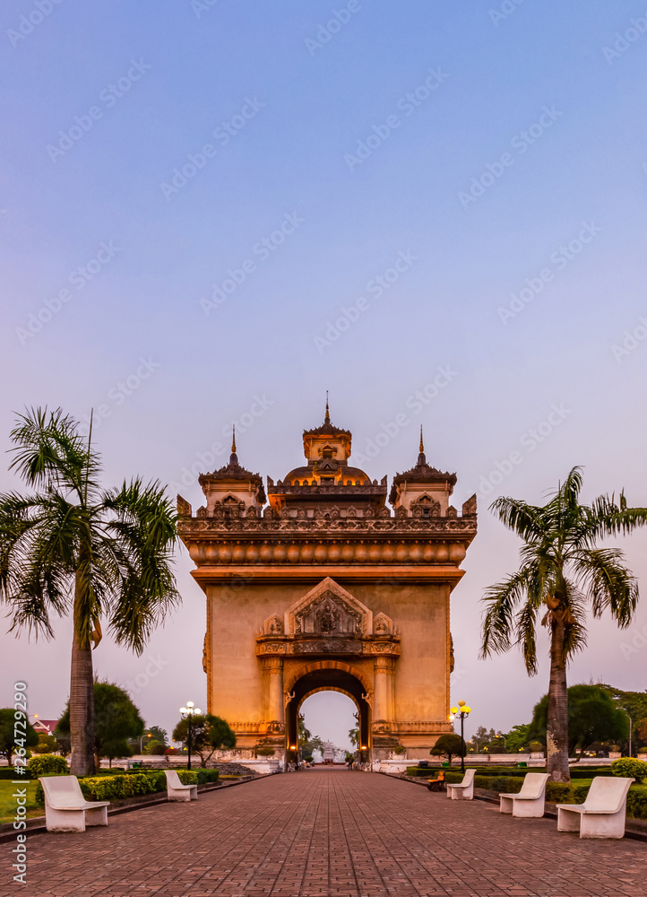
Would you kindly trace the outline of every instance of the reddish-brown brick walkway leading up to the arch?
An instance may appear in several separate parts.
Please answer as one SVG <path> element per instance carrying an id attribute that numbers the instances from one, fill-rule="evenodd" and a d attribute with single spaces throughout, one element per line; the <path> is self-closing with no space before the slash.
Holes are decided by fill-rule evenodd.
<path id="1" fill-rule="evenodd" d="M 29 897 L 647 895 L 647 844 L 579 840 L 549 819 L 365 772 L 304 771 L 29 839 Z"/>

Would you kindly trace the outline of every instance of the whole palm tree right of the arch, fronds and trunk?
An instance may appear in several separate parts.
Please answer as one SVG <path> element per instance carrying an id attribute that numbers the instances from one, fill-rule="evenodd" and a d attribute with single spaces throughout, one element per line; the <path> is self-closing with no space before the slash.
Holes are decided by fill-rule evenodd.
<path id="1" fill-rule="evenodd" d="M 638 584 L 617 549 L 596 548 L 603 536 L 630 533 L 647 523 L 647 508 L 627 508 L 625 493 L 600 495 L 591 505 L 579 502 L 581 468 L 574 467 L 547 504 L 535 507 L 498 498 L 491 508 L 525 540 L 522 565 L 487 589 L 481 656 L 520 645 L 529 675 L 537 673 L 537 624 L 550 632 L 548 688 L 548 772 L 554 781 L 570 781 L 568 772 L 568 699 L 566 666 L 586 644 L 585 617 L 605 610 L 621 628 L 631 623 Z"/>

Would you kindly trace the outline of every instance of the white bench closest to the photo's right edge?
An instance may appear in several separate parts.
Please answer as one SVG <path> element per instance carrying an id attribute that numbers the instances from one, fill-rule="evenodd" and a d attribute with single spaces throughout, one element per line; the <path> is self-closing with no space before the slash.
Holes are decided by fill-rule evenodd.
<path id="1" fill-rule="evenodd" d="M 624 838 L 626 795 L 634 779 L 596 776 L 583 804 L 557 804 L 557 831 L 580 838 Z"/>

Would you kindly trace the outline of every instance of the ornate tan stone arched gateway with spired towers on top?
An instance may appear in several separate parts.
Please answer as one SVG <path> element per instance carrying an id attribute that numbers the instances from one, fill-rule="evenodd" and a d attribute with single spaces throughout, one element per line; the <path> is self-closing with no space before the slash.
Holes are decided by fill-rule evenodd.
<path id="1" fill-rule="evenodd" d="M 303 434 L 306 466 L 263 481 L 238 464 L 200 476 L 206 505 L 178 496 L 180 534 L 207 598 L 209 712 L 252 756 L 297 753 L 298 710 L 315 692 L 358 708 L 362 758 L 419 754 L 451 731 L 450 593 L 476 534 L 476 496 L 449 503 L 456 476 L 418 463 L 370 481 L 349 466 L 351 434 Z"/>

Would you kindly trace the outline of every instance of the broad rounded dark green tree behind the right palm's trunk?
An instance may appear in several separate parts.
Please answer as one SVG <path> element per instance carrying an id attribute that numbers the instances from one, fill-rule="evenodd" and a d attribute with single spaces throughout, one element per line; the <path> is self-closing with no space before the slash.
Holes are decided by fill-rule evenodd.
<path id="1" fill-rule="evenodd" d="M 571 685 L 568 695 L 568 753 L 585 751 L 593 742 L 615 742 L 627 736 L 629 722 L 608 692 L 599 685 Z M 544 740 L 548 725 L 548 694 L 535 705 L 531 736 Z"/>

